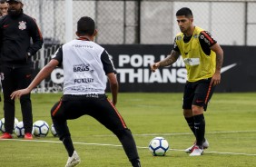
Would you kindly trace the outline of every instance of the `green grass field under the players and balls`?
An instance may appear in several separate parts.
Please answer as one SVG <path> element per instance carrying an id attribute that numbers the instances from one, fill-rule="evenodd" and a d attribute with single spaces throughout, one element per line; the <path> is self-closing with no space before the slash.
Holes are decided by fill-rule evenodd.
<path id="1" fill-rule="evenodd" d="M 52 124 L 50 109 L 61 94 L 32 94 L 34 121 Z M 3 102 L 0 118 L 4 117 Z M 119 112 L 132 130 L 143 167 L 254 167 L 256 165 L 256 93 L 215 93 L 205 113 L 210 148 L 200 157 L 183 152 L 194 137 L 182 116 L 182 93 L 120 93 Z M 72 112 L 72 111 L 71 111 Z M 16 118 L 22 121 L 19 101 Z M 89 116 L 68 122 L 84 167 L 129 167 L 120 142 Z M 164 137 L 171 150 L 154 157 L 148 143 Z M 25 141 L 0 141 L 0 167 L 63 167 L 64 145 L 51 133 Z"/>

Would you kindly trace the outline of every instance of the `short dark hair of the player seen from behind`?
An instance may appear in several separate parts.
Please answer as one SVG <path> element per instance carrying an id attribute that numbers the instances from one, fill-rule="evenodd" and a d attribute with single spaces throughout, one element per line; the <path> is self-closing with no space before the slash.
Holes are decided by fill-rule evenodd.
<path id="1" fill-rule="evenodd" d="M 81 17 L 77 22 L 77 33 L 93 35 L 95 31 L 95 23 L 91 17 Z"/>

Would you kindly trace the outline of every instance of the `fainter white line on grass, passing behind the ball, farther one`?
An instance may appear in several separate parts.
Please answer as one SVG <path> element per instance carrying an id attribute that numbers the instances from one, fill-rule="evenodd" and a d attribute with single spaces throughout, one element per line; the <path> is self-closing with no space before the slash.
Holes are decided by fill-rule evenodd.
<path id="1" fill-rule="evenodd" d="M 209 132 L 206 134 L 217 134 L 217 133 L 256 133 L 256 131 L 216 131 Z M 173 135 L 192 135 L 192 133 L 149 133 L 149 134 L 133 134 L 133 136 L 173 136 Z M 103 136 L 114 136 L 113 134 L 103 134 L 103 135 L 93 135 L 95 137 L 103 137 Z"/>

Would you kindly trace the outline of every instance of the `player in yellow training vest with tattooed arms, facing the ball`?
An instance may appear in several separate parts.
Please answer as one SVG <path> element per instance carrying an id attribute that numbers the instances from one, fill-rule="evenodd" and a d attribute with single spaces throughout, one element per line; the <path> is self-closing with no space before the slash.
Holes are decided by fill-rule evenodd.
<path id="1" fill-rule="evenodd" d="M 175 37 L 172 53 L 164 60 L 151 65 L 151 69 L 155 72 L 159 67 L 171 65 L 182 55 L 187 69 L 183 115 L 196 138 L 196 142 L 185 152 L 191 152 L 190 156 L 200 156 L 203 148 L 209 147 L 209 142 L 204 137 L 203 112 L 207 109 L 215 86 L 221 82 L 223 51 L 209 32 L 193 25 L 190 8 L 179 9 L 176 19 L 181 33 Z"/>

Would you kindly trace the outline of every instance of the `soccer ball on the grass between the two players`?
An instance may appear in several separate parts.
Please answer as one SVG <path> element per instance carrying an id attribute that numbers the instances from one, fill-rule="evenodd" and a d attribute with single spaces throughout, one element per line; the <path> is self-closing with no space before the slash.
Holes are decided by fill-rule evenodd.
<path id="1" fill-rule="evenodd" d="M 164 156 L 169 150 L 169 143 L 163 137 L 155 137 L 149 143 L 149 150 L 153 156 Z"/>

